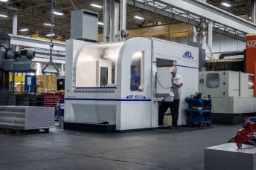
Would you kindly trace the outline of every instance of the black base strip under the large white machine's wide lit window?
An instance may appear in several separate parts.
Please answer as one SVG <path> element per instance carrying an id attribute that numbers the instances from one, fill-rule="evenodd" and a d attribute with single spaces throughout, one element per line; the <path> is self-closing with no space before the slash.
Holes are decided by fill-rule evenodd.
<path id="1" fill-rule="evenodd" d="M 109 132 L 116 131 L 115 125 L 78 123 L 78 122 L 64 122 L 64 129 L 74 130 L 74 131 L 102 132 L 102 133 L 109 133 Z"/>

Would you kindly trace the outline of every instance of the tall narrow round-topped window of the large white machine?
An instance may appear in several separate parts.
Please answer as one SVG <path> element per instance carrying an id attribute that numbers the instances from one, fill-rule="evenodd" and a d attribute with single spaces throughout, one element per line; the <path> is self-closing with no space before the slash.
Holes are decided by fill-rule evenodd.
<path id="1" fill-rule="evenodd" d="M 130 91 L 144 91 L 144 52 L 137 51 L 132 55 Z"/>

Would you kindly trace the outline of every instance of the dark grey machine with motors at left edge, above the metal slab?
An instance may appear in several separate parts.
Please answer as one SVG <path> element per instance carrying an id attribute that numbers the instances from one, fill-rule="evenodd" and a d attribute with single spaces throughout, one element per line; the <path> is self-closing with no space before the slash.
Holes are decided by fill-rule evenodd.
<path id="1" fill-rule="evenodd" d="M 0 105 L 15 105 L 14 81 L 9 85 L 9 74 L 28 73 L 36 71 L 33 50 L 19 50 L 10 46 L 10 36 L 0 33 Z M 9 88 L 11 86 L 11 88 Z"/>

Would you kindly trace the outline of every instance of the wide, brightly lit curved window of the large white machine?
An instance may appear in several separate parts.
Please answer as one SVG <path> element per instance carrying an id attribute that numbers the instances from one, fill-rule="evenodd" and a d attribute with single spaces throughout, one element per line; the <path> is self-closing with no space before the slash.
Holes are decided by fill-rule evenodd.
<path id="1" fill-rule="evenodd" d="M 84 48 L 77 57 L 76 88 L 115 87 L 121 45 L 123 43 Z"/>

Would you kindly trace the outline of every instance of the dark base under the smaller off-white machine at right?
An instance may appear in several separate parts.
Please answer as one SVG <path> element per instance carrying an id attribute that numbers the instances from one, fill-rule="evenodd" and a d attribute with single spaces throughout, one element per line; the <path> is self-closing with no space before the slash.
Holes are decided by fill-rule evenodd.
<path id="1" fill-rule="evenodd" d="M 212 114 L 211 120 L 214 123 L 237 124 L 244 122 L 246 114 Z"/>

